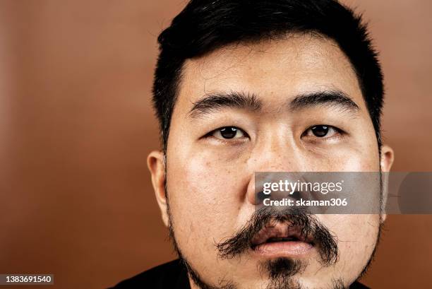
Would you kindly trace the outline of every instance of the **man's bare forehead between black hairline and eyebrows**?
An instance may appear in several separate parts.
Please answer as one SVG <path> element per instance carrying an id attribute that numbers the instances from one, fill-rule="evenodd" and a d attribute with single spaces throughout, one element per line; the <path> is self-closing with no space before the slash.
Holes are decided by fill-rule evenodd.
<path id="1" fill-rule="evenodd" d="M 179 86 L 179 107 L 208 93 L 241 91 L 268 105 L 316 90 L 340 90 L 360 106 L 361 90 L 349 59 L 337 44 L 316 35 L 239 43 L 188 59 Z M 177 106 L 176 105 L 176 106 Z"/>

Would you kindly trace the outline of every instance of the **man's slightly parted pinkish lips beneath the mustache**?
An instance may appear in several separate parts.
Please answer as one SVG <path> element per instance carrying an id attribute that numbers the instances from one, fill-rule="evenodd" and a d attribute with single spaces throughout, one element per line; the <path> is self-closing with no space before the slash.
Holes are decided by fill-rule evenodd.
<path id="1" fill-rule="evenodd" d="M 267 256 L 294 256 L 306 254 L 313 249 L 313 242 L 301 234 L 300 228 L 287 223 L 265 226 L 253 237 L 253 252 Z"/>

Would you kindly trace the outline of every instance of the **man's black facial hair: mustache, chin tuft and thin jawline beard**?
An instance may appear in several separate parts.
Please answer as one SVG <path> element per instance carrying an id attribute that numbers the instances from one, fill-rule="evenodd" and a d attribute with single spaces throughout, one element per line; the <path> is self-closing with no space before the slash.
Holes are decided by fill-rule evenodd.
<path id="1" fill-rule="evenodd" d="M 191 266 L 191 262 L 188 261 L 186 256 L 182 254 L 181 249 L 176 242 L 174 235 L 174 225 L 172 222 L 172 214 L 169 210 L 168 191 L 167 184 L 165 182 L 165 192 L 167 194 L 167 214 L 169 239 L 172 241 L 174 250 L 179 256 L 179 259 L 186 267 L 188 276 L 191 278 L 193 283 L 200 289 L 237 289 L 239 285 L 231 280 L 220 280 L 217 285 L 211 285 L 203 281 L 200 273 Z M 381 180 L 380 190 L 380 202 L 382 202 L 383 190 Z M 330 233 L 330 230 L 320 223 L 316 216 L 302 208 L 285 208 L 283 210 L 275 210 L 273 208 L 263 207 L 256 210 L 251 219 L 244 225 L 243 228 L 238 230 L 232 237 L 223 240 L 216 244 L 218 256 L 221 259 L 232 259 L 236 256 L 241 256 L 248 249 L 251 249 L 253 237 L 265 226 L 268 226 L 272 222 L 283 222 L 288 223 L 289 226 L 296 226 L 300 228 L 301 235 L 311 237 L 313 244 L 316 245 L 318 253 L 320 254 L 320 264 L 322 266 L 335 265 L 339 258 L 339 249 L 337 247 L 337 240 L 335 236 Z M 380 240 L 381 230 L 383 228 L 382 214 L 380 213 L 380 220 L 378 225 L 378 233 L 376 237 L 375 246 L 371 256 L 369 256 L 366 265 L 356 280 L 364 276 L 368 268 L 374 259 L 376 249 Z M 268 285 L 266 289 L 303 289 L 294 276 L 301 273 L 306 269 L 308 264 L 305 261 L 298 259 L 292 259 L 289 257 L 279 257 L 276 259 L 270 259 L 267 261 L 260 262 L 259 269 L 261 272 L 268 276 Z M 332 279 L 330 288 L 333 289 L 344 289 L 346 288 L 342 278 Z"/>

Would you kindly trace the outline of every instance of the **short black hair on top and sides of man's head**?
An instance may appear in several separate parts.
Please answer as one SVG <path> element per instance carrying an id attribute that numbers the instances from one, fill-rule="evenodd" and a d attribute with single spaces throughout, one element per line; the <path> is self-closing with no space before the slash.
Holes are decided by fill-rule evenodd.
<path id="1" fill-rule="evenodd" d="M 335 0 L 191 0 L 157 38 L 160 54 L 152 91 L 164 151 L 186 59 L 225 45 L 289 33 L 323 35 L 334 40 L 347 55 L 380 148 L 383 74 L 361 15 Z"/>

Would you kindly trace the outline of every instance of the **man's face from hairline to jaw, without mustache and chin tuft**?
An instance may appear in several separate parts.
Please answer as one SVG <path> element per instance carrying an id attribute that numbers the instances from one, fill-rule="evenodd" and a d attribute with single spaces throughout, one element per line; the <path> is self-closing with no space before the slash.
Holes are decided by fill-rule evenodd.
<path id="1" fill-rule="evenodd" d="M 335 102 L 293 105 L 323 92 L 342 93 L 358 109 Z M 317 247 L 272 254 L 249 248 L 221 258 L 217 244 L 256 211 L 254 172 L 379 170 L 375 131 L 349 60 L 331 40 L 292 35 L 186 61 L 167 143 L 167 199 L 160 188 L 157 195 L 165 223 L 169 204 L 176 244 L 203 282 L 277 288 L 262 265 L 294 260 L 302 268 L 292 284 L 332 288 L 352 283 L 364 269 L 380 216 L 314 216 L 336 241 L 339 258 L 331 264 Z"/>

